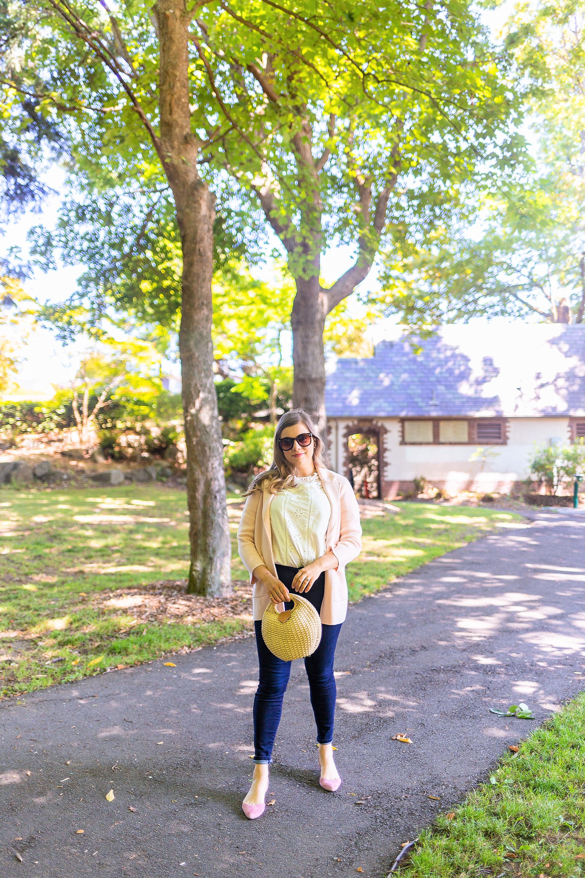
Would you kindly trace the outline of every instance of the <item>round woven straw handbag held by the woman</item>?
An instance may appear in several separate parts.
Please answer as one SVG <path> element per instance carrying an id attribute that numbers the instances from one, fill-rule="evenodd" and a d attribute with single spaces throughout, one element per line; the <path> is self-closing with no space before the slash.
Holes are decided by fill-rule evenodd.
<path id="1" fill-rule="evenodd" d="M 262 616 L 262 637 L 271 652 L 282 661 L 304 659 L 321 642 L 321 620 L 313 605 L 300 594 L 290 593 L 294 607 L 277 613 L 268 604 Z"/>

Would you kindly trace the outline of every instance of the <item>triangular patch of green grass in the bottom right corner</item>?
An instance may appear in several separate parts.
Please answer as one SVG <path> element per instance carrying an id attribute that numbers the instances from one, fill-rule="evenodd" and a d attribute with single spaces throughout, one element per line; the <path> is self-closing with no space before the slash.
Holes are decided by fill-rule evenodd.
<path id="1" fill-rule="evenodd" d="M 424 830 L 402 878 L 581 878 L 585 694 L 506 755 L 488 783 Z"/>

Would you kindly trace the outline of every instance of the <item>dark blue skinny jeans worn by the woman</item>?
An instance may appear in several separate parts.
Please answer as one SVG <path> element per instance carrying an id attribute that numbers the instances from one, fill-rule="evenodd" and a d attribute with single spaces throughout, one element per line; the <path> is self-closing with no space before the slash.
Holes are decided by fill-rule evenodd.
<path id="1" fill-rule="evenodd" d="M 276 565 L 278 578 L 289 588 L 298 568 Z M 321 610 L 325 591 L 325 573 L 317 579 L 310 591 L 303 593 L 310 603 Z M 285 604 L 289 609 L 292 603 Z M 255 622 L 256 646 L 260 663 L 260 682 L 253 702 L 254 762 L 267 765 L 272 762 L 272 748 L 281 721 L 282 699 L 289 685 L 290 662 L 278 659 L 268 649 L 262 637 L 262 623 Z M 335 646 L 341 625 L 322 625 L 321 643 L 311 656 L 304 659 L 309 678 L 310 703 L 317 724 L 318 744 L 330 744 L 333 740 L 333 716 L 337 688 L 333 676 Z"/>

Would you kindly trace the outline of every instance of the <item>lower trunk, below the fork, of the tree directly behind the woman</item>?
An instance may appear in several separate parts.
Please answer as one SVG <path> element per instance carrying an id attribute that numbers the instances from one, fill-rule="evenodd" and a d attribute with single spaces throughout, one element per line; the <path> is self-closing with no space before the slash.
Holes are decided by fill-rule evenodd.
<path id="1" fill-rule="evenodd" d="M 326 293 L 321 289 L 318 277 L 310 277 L 306 280 L 297 277 L 296 296 L 291 315 L 295 368 L 293 406 L 304 408 L 311 415 L 324 441 L 327 428 L 323 347 L 326 309 Z"/>

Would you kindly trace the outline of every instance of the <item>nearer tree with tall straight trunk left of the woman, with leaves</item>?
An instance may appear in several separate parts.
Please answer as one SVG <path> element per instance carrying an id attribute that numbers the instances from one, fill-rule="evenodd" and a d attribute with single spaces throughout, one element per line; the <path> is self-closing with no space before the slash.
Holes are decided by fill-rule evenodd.
<path id="1" fill-rule="evenodd" d="M 232 98 L 226 102 L 213 82 L 203 51 L 205 29 L 223 18 L 224 7 L 205 0 L 153 5 L 123 0 L 114 14 L 106 0 L 27 0 L 25 6 L 36 31 L 21 41 L 18 61 L 4 53 L 4 88 L 23 106 L 32 96 L 47 119 L 61 121 L 75 174 L 101 188 L 158 176 L 172 192 L 182 263 L 179 348 L 188 449 L 189 591 L 218 594 L 230 579 L 231 548 L 212 370 L 215 198 L 202 162 L 225 150 L 232 133 L 238 133 L 236 144 L 244 136 L 237 120 L 229 119 Z M 321 41 L 317 21 L 336 46 L 355 42 L 348 19 L 336 14 L 330 20 L 326 8 L 316 13 L 314 0 L 302 0 L 294 10 L 272 0 L 242 4 L 235 17 L 230 14 L 232 26 L 225 29 L 218 52 L 230 58 L 239 54 L 238 76 L 259 107 L 261 52 L 255 32 L 242 24 L 248 12 L 292 47 L 299 69 L 318 67 L 322 56 L 326 63 L 329 44 Z M 246 162 L 249 167 L 247 156 Z"/>

